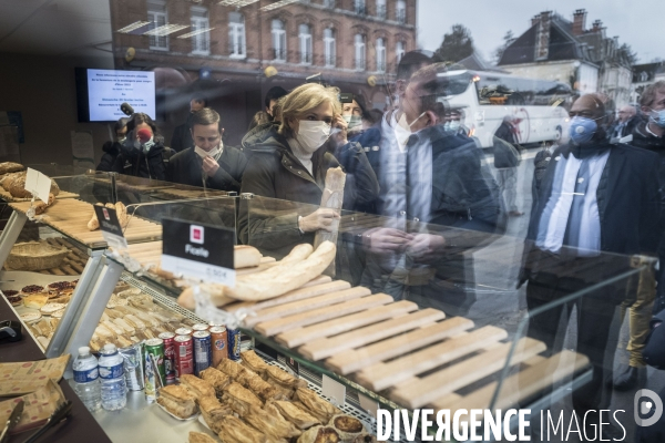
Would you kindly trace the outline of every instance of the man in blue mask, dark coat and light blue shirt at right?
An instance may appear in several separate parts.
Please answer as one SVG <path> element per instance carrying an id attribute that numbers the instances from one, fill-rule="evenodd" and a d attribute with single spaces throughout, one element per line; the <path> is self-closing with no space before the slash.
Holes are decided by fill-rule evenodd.
<path id="1" fill-rule="evenodd" d="M 577 99 L 570 116 L 571 142 L 552 153 L 531 215 L 521 281 L 529 282 L 528 334 L 550 352 L 563 346 L 567 321 L 562 330 L 560 321 L 576 308 L 577 352 L 593 365 L 592 381 L 573 392 L 577 416 L 584 416 L 608 405 L 603 371 L 611 380 L 612 364 L 603 362 L 618 332 L 611 326 L 627 279 L 581 291 L 631 271 L 630 256 L 655 254 L 659 203 L 656 156 L 606 141 L 600 96 Z M 576 292 L 583 296 L 552 306 Z"/>

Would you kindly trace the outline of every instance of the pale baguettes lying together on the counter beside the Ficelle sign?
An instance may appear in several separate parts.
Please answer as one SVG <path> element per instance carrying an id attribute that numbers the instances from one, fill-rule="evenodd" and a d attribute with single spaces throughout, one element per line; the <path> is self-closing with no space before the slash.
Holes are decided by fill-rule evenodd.
<path id="1" fill-rule="evenodd" d="M 205 285 L 211 300 L 217 307 L 234 301 L 260 301 L 279 297 L 297 289 L 321 275 L 335 259 L 337 248 L 331 241 L 324 241 L 316 250 L 309 244 L 298 245 L 284 259 L 270 268 L 238 276 L 233 288 L 224 285 Z M 187 309 L 194 309 L 194 292 L 185 289 L 177 302 Z"/>

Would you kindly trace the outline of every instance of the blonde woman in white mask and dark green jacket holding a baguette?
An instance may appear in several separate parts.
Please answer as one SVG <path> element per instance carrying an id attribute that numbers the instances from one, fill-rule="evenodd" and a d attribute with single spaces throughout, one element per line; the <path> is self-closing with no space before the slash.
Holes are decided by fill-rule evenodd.
<path id="1" fill-rule="evenodd" d="M 347 172 L 345 187 L 345 208 L 350 207 L 358 192 L 357 183 L 367 183 L 364 194 L 378 194 L 376 175 L 367 162 L 365 152 L 347 141 L 347 124 L 341 117 L 339 90 L 316 83 L 296 87 L 282 101 L 282 123 L 279 125 L 258 126 L 263 132 L 252 133 L 243 141 L 249 156 L 249 163 L 243 176 L 241 193 L 256 196 L 298 202 L 319 206 L 325 187 L 326 172 L 340 166 L 328 144 L 341 146 Z M 348 146 L 348 148 L 344 148 Z M 358 164 L 366 164 L 361 179 L 349 181 Z M 367 175 L 367 172 L 371 175 Z M 375 193 L 376 190 L 376 193 Z M 374 198 L 374 197 L 371 197 Z M 248 203 L 249 202 L 249 203 Z M 287 254 L 300 243 L 313 243 L 317 230 L 330 230 L 332 222 L 339 218 L 336 210 L 311 206 L 298 208 L 286 214 L 275 215 L 274 210 L 250 212 L 256 200 L 243 199 L 238 218 L 241 241 L 264 249 L 274 255 Z M 300 205 L 303 206 L 303 205 Z M 284 213 L 284 212 L 283 212 Z"/>

